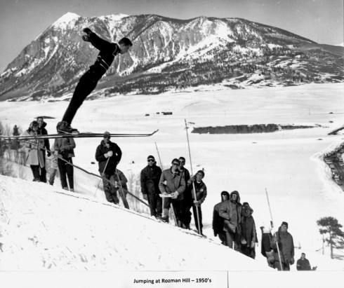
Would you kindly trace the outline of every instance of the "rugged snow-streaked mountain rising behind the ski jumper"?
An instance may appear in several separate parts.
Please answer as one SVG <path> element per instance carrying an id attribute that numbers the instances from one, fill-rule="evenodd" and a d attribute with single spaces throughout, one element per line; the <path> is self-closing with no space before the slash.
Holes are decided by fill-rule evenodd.
<path id="1" fill-rule="evenodd" d="M 240 18 L 190 20 L 159 15 L 84 18 L 67 13 L 25 47 L 0 75 L 0 100 L 48 100 L 74 90 L 98 50 L 82 29 L 108 41 L 126 36 L 98 83 L 101 97 L 160 93 L 220 83 L 228 89 L 343 82 L 343 47 L 322 45 L 291 32 Z M 89 98 L 99 97 L 97 90 Z"/>

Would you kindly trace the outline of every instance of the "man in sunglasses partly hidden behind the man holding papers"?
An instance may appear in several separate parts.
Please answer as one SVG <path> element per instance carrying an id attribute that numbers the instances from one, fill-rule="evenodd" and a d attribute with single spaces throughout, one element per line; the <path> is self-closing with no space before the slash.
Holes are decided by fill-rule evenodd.
<path id="1" fill-rule="evenodd" d="M 179 171 L 183 173 L 184 179 L 185 179 L 185 183 L 187 183 L 187 181 L 189 181 L 190 179 L 190 172 L 189 170 L 187 170 L 185 168 L 185 163 L 186 160 L 184 157 L 179 157 Z M 182 201 L 182 228 L 185 229 L 189 229 L 190 230 L 190 222 L 191 222 L 191 207 L 192 207 L 192 203 L 193 203 L 193 198 L 191 195 L 191 187 L 190 186 L 186 186 L 185 187 L 185 191 L 184 191 L 184 197 L 183 197 L 183 201 Z"/>

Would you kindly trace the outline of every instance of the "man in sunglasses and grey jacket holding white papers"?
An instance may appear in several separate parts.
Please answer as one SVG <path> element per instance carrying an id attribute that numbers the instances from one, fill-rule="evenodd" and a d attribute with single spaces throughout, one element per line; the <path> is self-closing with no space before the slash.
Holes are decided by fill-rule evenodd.
<path id="1" fill-rule="evenodd" d="M 159 181 L 159 188 L 162 194 L 171 195 L 171 198 L 166 198 L 166 200 L 164 200 L 164 207 L 162 211 L 163 216 L 161 219 L 168 222 L 168 209 L 171 203 L 173 203 L 178 226 L 181 226 L 183 214 L 182 201 L 186 184 L 183 173 L 178 169 L 179 165 L 179 160 L 174 158 L 172 160 L 171 168 L 162 172 Z"/>

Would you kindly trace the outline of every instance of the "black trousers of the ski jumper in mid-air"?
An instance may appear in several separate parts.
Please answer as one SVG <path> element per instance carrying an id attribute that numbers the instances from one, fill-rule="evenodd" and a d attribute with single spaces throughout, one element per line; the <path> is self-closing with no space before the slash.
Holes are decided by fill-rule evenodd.
<path id="1" fill-rule="evenodd" d="M 86 97 L 94 90 L 99 79 L 102 78 L 102 74 L 103 73 L 97 71 L 88 70 L 83 76 L 81 76 L 62 121 L 72 124 L 73 118 L 75 114 L 77 114 L 77 110 L 81 106 L 82 102 L 84 102 Z"/>

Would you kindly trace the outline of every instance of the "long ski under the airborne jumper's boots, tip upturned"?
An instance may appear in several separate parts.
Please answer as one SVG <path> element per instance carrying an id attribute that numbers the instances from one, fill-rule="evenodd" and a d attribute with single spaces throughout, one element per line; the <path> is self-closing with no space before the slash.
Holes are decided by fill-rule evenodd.
<path id="1" fill-rule="evenodd" d="M 154 135 L 158 130 L 155 130 L 152 133 L 111 133 L 111 137 L 150 137 Z M 93 133 L 93 132 L 81 132 L 78 134 L 50 134 L 50 135 L 37 135 L 37 136 L 6 136 L 6 135 L 0 135 L 0 139 L 6 139 L 6 140 L 34 140 L 34 139 L 58 139 L 58 138 L 101 138 L 104 136 L 104 133 Z"/>

